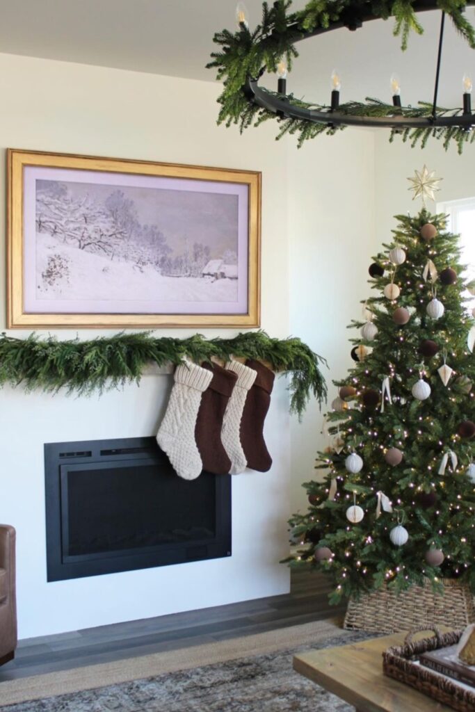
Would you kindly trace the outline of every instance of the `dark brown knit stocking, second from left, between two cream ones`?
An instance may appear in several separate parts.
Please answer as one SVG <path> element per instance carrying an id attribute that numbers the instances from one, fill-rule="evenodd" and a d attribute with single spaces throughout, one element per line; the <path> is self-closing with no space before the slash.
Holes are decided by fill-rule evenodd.
<path id="1" fill-rule="evenodd" d="M 238 377 L 217 364 L 204 363 L 202 368 L 212 373 L 209 388 L 202 395 L 194 439 L 202 456 L 203 469 L 214 475 L 226 475 L 231 469 L 231 460 L 221 442 L 224 412 Z"/>

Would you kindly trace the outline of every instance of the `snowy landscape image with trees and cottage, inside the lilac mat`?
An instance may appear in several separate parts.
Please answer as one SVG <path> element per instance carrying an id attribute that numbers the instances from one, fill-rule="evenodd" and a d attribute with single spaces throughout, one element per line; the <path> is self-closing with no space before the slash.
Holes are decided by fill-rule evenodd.
<path id="1" fill-rule="evenodd" d="M 38 180 L 40 298 L 236 300 L 237 210 L 177 193 Z"/>

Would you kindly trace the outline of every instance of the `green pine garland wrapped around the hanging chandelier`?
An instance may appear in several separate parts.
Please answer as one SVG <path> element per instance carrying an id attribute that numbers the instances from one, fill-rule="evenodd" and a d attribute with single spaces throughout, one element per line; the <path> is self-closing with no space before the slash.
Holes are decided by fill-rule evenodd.
<path id="1" fill-rule="evenodd" d="M 218 124 L 224 123 L 227 127 L 231 124 L 239 125 L 241 133 L 250 126 L 259 126 L 270 119 L 277 120 L 279 124 L 277 139 L 287 133 L 298 136 L 298 147 L 306 140 L 326 133 L 333 135 L 346 128 L 344 125 L 332 126 L 328 122 L 315 123 L 306 119 L 284 118 L 275 113 L 251 103 L 246 97 L 245 86 L 247 79 L 259 77 L 263 71 L 275 72 L 280 61 L 285 61 L 288 70 L 291 70 L 293 60 L 298 56 L 295 42 L 299 33 L 311 32 L 317 28 L 328 28 L 330 23 L 345 21 L 345 19 L 364 18 L 375 16 L 386 20 L 390 16 L 395 18 L 394 34 L 401 36 L 402 49 L 407 48 L 410 31 L 419 34 L 423 28 L 417 20 L 414 6 L 417 0 L 310 0 L 305 8 L 298 12 L 291 12 L 291 0 L 278 0 L 269 7 L 267 2 L 262 6 L 262 21 L 254 31 L 241 26 L 235 33 L 229 30 L 217 32 L 214 43 L 219 46 L 219 51 L 212 53 L 212 61 L 208 68 L 217 70 L 217 79 L 223 81 L 223 92 L 218 98 L 221 104 Z M 456 31 L 475 48 L 475 29 L 464 16 L 466 6 L 474 4 L 472 0 L 434 0 L 434 9 L 440 9 L 451 17 Z M 271 93 L 271 92 L 270 92 Z M 288 95 L 291 105 L 301 108 L 312 108 L 320 111 L 329 111 L 326 105 L 310 104 L 293 95 Z M 348 115 L 366 116 L 393 116 L 396 114 L 405 117 L 430 117 L 432 104 L 419 102 L 416 108 L 395 108 L 381 100 L 366 98 L 365 102 L 350 101 L 338 107 L 338 113 Z M 461 109 L 437 109 L 438 115 L 459 115 Z M 400 135 L 404 142 L 411 142 L 412 147 L 420 143 L 424 148 L 429 138 L 434 137 L 443 141 L 447 150 L 455 142 L 461 153 L 467 142 L 473 142 L 473 132 L 465 131 L 461 127 L 427 127 L 392 130 L 390 141 L 395 135 Z"/>

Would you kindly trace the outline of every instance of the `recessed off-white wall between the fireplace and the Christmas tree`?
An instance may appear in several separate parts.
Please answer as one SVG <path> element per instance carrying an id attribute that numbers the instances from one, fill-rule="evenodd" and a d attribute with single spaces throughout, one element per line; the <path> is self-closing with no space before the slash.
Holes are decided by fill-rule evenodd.
<path id="1" fill-rule="evenodd" d="M 367 268 L 375 253 L 374 137 L 347 129 L 319 137 L 289 155 L 289 232 L 291 235 L 291 328 L 328 360 L 328 406 L 316 402 L 303 421 L 291 422 L 292 511 L 306 511 L 301 483 L 320 476 L 315 456 L 325 443 L 323 414 L 353 364 L 352 333 L 367 298 Z"/>

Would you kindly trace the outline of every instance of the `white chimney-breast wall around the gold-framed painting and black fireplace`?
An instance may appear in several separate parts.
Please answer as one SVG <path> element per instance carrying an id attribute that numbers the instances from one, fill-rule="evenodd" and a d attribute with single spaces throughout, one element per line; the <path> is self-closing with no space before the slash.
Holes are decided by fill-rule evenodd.
<path id="1" fill-rule="evenodd" d="M 70 152 L 189 163 L 263 172 L 262 326 L 285 337 L 288 318 L 286 147 L 269 127 L 239 137 L 216 127 L 212 83 L 71 63 L 0 55 L 1 149 Z M 0 171 L 4 225 L 5 171 Z M 1 263 L 1 280 L 5 268 Z M 4 328 L 4 293 L 0 326 Z M 203 331 L 203 330 L 202 330 Z M 175 336 L 188 330 L 163 330 Z M 219 330 L 208 335 L 223 334 Z M 227 335 L 233 335 L 231 330 Z M 25 333 L 14 332 L 23 336 Z M 98 335 L 81 331 L 80 337 Z M 61 338 L 75 336 L 62 331 Z M 277 382 L 266 439 L 274 465 L 268 473 L 233 480 L 232 557 L 46 582 L 43 443 L 150 435 L 157 430 L 170 377 L 98 399 L 1 392 L 0 521 L 18 530 L 20 637 L 196 609 L 288 591 L 288 394 Z"/>

